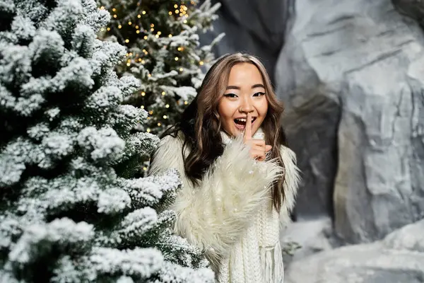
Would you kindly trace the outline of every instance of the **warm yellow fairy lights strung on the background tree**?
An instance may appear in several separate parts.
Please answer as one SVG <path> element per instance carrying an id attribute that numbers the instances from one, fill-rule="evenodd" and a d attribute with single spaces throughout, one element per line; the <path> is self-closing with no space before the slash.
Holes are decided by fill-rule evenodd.
<path id="1" fill-rule="evenodd" d="M 184 24 L 188 23 L 188 19 L 189 19 L 189 7 L 184 4 L 187 1 L 182 1 L 181 4 L 174 4 L 169 8 L 168 11 L 168 16 L 171 17 L 176 17 L 177 21 L 181 21 Z M 192 4 L 193 6 L 196 4 L 195 1 L 190 1 L 190 4 Z M 141 6 L 141 0 L 139 2 L 137 2 L 136 6 Z M 138 35 L 140 33 L 144 33 L 143 35 L 143 40 L 148 40 L 149 37 L 154 36 L 155 38 L 159 38 L 159 37 L 163 37 L 163 36 L 167 36 L 167 37 L 172 37 L 172 33 L 169 33 L 167 35 L 163 35 L 163 33 L 160 30 L 155 30 L 157 29 L 157 27 L 155 26 L 154 23 L 150 23 L 150 25 L 147 28 L 143 28 L 143 26 L 141 26 L 140 19 L 142 19 L 143 17 L 148 17 L 150 16 L 148 11 L 146 10 L 141 10 L 139 8 L 134 9 L 134 11 L 130 12 L 130 13 L 126 13 L 126 15 L 123 18 L 118 18 L 118 9 L 111 6 L 111 7 L 105 7 L 105 6 L 100 6 L 100 9 L 106 9 L 107 11 L 110 11 L 111 16 L 112 16 L 112 22 L 111 25 L 108 26 L 106 29 L 102 28 L 102 32 L 108 33 L 108 32 L 114 32 L 114 35 L 120 36 L 122 42 L 125 42 L 126 44 L 129 44 L 130 40 L 129 38 L 123 38 L 121 33 L 119 32 L 120 30 L 122 30 L 124 28 L 124 25 L 130 26 L 132 28 L 135 29 L 135 33 Z M 139 40 L 140 38 L 138 38 Z M 147 48 L 147 47 L 146 47 Z M 141 50 L 141 54 L 133 54 L 132 52 L 128 52 L 126 53 L 126 66 L 127 67 L 131 67 L 131 64 L 145 64 L 146 60 L 143 58 L 144 56 L 147 56 L 149 54 L 148 50 L 146 50 L 146 48 L 144 48 L 143 50 Z M 178 52 L 183 52 L 184 51 L 184 47 L 180 46 L 177 47 L 177 51 Z M 187 54 L 187 56 L 192 57 L 191 54 Z M 193 57 L 193 59 L 195 59 Z M 175 56 L 174 57 L 175 62 L 178 62 L 180 60 L 180 57 Z M 196 59 L 195 59 L 196 60 Z M 197 61 L 197 60 L 196 60 Z M 198 64 L 200 66 L 204 65 L 204 61 L 200 60 L 198 62 Z M 178 71 L 180 73 L 182 73 L 184 71 L 183 67 L 178 67 Z M 148 74 L 148 77 L 151 77 L 151 74 Z M 162 96 L 166 95 L 165 91 L 162 91 Z M 146 96 L 146 92 L 145 91 L 141 91 L 140 93 L 141 96 Z M 177 104 L 179 104 L 179 101 L 177 101 Z M 187 105 L 188 102 L 184 101 L 184 105 Z M 141 105 L 142 109 L 145 109 L 144 105 Z M 165 104 L 165 108 L 170 108 L 169 104 Z M 149 115 L 153 115 L 153 110 L 148 110 L 148 114 Z M 165 113 L 166 114 L 166 113 Z M 168 118 L 168 115 L 163 115 L 162 116 L 164 120 L 166 120 Z M 147 117 L 148 120 L 151 120 L 151 117 Z M 158 127 L 162 126 L 161 122 L 157 123 Z M 150 128 L 146 129 L 146 132 L 151 132 Z"/>

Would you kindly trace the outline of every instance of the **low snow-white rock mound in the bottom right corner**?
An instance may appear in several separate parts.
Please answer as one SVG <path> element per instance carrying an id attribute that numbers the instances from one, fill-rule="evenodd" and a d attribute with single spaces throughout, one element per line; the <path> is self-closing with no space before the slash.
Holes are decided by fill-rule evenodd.
<path id="1" fill-rule="evenodd" d="M 413 233 L 415 238 L 411 238 Z M 424 221 L 420 221 L 389 234 L 384 241 L 336 248 L 292 262 L 284 282 L 422 283 L 423 241 Z"/>

